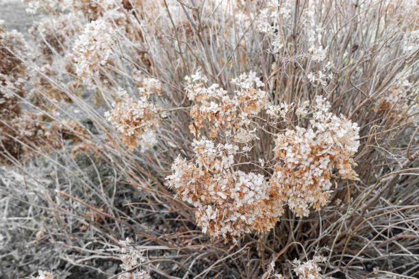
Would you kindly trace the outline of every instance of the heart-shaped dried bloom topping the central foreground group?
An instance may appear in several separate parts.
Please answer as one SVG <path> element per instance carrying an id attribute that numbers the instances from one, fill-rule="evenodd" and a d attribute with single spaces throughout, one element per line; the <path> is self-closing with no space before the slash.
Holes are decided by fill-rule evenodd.
<path id="1" fill-rule="evenodd" d="M 267 94 L 260 88 L 264 85 L 255 72 L 242 74 L 231 83 L 236 85 L 234 94 L 229 94 L 218 84 L 205 87 L 207 79 L 199 72 L 186 77 L 188 98 L 194 101 L 190 115 L 190 131 L 199 135 L 203 127 L 210 130 L 210 137 L 216 137 L 218 131 L 233 134 L 238 129 L 249 127 L 250 118 L 264 108 Z"/>

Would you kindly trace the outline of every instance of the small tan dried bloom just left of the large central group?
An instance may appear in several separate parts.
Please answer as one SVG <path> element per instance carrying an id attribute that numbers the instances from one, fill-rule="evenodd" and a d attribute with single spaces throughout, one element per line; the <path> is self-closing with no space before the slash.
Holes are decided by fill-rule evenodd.
<path id="1" fill-rule="evenodd" d="M 144 148 L 149 148 L 155 141 L 147 139 L 152 142 L 143 142 L 142 135 L 146 131 L 150 133 L 159 126 L 159 108 L 150 103 L 147 96 L 141 96 L 137 101 L 125 91 L 119 94 L 122 96 L 121 100 L 116 102 L 114 109 L 107 111 L 105 117 L 121 134 L 123 144 L 129 148 L 136 148 L 143 143 Z"/>

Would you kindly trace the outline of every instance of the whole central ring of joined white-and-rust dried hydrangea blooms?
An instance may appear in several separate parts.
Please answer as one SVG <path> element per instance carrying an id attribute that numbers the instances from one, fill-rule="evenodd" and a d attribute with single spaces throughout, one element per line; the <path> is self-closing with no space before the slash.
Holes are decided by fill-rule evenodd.
<path id="1" fill-rule="evenodd" d="M 232 79 L 235 90 L 205 86 L 207 79 L 196 73 L 186 77 L 186 93 L 194 103 L 191 132 L 194 157 L 177 157 L 169 187 L 195 208 L 196 222 L 212 237 L 237 237 L 252 230 L 275 226 L 286 203 L 299 216 L 327 203 L 331 175 L 357 179 L 352 157 L 359 146 L 356 123 L 329 112 L 330 104 L 318 96 L 311 107 L 272 105 L 254 72 Z M 274 120 L 294 111 L 307 127 L 290 124 L 272 137 L 257 122 L 262 114 Z M 275 159 L 264 165 L 252 159 L 256 135 L 272 140 Z M 208 139 L 210 138 L 210 139 Z M 259 156 L 259 155 L 257 155 Z M 249 168 L 249 165 L 255 165 Z M 270 170 L 270 171 L 268 171 Z"/>

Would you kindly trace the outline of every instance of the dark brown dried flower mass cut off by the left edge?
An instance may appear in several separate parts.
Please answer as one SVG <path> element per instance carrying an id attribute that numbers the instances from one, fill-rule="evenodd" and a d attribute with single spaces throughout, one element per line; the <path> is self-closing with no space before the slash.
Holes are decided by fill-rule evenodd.
<path id="1" fill-rule="evenodd" d="M 30 49 L 23 35 L 0 27 L 0 162 L 20 159 L 31 148 L 44 146 L 42 116 L 23 114 L 21 98 L 26 94 L 27 58 Z"/>

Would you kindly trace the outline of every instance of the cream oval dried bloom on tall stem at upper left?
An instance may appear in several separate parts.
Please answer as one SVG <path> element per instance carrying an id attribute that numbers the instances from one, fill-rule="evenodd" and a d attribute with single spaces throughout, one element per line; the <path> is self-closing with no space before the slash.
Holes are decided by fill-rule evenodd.
<path id="1" fill-rule="evenodd" d="M 115 31 L 103 18 L 86 25 L 73 46 L 76 73 L 90 85 L 99 78 L 99 69 L 109 62 Z"/>

